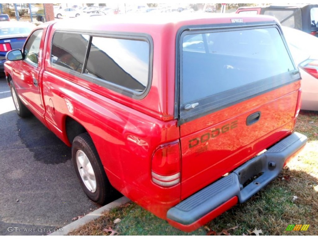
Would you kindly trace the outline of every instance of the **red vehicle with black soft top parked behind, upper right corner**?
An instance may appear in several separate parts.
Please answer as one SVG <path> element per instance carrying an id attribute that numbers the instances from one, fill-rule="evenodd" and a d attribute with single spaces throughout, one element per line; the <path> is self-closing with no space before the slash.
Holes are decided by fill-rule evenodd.
<path id="1" fill-rule="evenodd" d="M 283 26 L 318 36 L 318 4 L 240 7 L 236 13 L 271 15 L 277 18 Z"/>

